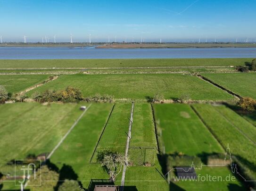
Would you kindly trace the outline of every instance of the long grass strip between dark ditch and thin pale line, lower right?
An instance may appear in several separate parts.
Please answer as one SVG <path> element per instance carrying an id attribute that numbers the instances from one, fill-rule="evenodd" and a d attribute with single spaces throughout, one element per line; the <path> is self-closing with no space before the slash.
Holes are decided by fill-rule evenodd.
<path id="1" fill-rule="evenodd" d="M 227 121 L 214 106 L 208 104 L 193 104 L 200 117 L 207 127 L 215 135 L 223 148 L 228 145 L 231 155 L 235 156 L 245 167 L 245 173 L 256 180 L 256 145 L 234 128 L 231 122 Z"/>

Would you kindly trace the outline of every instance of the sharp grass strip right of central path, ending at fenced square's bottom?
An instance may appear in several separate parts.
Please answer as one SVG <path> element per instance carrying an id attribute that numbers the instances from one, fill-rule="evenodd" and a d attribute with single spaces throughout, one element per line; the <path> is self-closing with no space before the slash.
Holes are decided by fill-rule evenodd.
<path id="1" fill-rule="evenodd" d="M 150 104 L 135 103 L 129 157 L 133 165 L 155 164 L 157 139 Z"/>

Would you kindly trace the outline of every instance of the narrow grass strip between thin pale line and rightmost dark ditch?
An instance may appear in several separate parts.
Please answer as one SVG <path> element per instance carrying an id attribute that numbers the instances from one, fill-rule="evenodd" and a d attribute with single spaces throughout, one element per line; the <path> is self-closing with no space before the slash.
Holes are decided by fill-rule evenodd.
<path id="1" fill-rule="evenodd" d="M 256 127 L 226 106 L 214 107 L 228 122 L 238 128 L 244 136 L 256 143 Z"/>

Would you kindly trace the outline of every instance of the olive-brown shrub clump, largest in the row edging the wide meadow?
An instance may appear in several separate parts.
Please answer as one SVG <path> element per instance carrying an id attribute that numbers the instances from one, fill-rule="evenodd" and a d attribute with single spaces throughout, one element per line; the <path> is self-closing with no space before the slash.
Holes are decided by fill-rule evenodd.
<path id="1" fill-rule="evenodd" d="M 75 102 L 83 100 L 83 95 L 78 88 L 67 87 L 65 90 L 46 90 L 42 94 L 35 92 L 32 95 L 35 101 L 39 102 L 52 102 L 52 101 L 63 101 L 63 102 Z"/>

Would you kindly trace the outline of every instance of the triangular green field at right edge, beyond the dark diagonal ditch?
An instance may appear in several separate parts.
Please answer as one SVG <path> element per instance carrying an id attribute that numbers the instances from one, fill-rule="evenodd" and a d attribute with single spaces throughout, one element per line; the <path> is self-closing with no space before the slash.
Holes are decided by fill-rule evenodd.
<path id="1" fill-rule="evenodd" d="M 256 99 L 256 73 L 203 74 L 202 76 L 242 97 Z"/>

